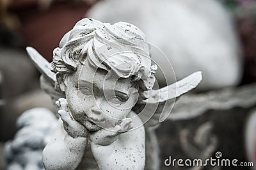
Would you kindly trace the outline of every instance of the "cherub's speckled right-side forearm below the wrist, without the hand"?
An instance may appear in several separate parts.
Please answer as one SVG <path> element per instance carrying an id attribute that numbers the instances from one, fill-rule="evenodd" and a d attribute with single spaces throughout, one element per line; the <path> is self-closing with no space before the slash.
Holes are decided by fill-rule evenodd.
<path id="1" fill-rule="evenodd" d="M 136 116 L 132 123 L 141 125 L 141 120 Z M 118 135 L 116 141 L 109 145 L 91 143 L 91 149 L 100 169 L 144 169 L 144 127 Z"/>

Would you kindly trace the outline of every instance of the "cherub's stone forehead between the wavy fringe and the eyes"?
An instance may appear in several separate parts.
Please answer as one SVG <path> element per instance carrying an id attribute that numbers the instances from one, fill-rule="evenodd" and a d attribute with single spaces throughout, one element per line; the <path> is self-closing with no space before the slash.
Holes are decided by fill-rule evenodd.
<path id="1" fill-rule="evenodd" d="M 118 77 L 114 72 L 107 72 L 102 68 L 95 68 L 86 59 L 80 68 L 79 85 L 97 86 L 102 89 L 115 89 L 127 93 L 132 86 L 132 79 Z"/>

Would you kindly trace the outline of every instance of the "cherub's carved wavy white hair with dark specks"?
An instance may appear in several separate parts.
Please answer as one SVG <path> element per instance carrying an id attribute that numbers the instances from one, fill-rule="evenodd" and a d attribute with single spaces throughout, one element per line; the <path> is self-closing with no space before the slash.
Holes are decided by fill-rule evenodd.
<path id="1" fill-rule="evenodd" d="M 76 72 L 86 58 L 93 66 L 113 70 L 119 77 L 134 77 L 140 92 L 154 85 L 157 67 L 151 66 L 150 45 L 144 33 L 132 24 L 80 20 L 54 49 L 49 68 L 56 75 Z M 146 98 L 143 94 L 140 97 Z"/>

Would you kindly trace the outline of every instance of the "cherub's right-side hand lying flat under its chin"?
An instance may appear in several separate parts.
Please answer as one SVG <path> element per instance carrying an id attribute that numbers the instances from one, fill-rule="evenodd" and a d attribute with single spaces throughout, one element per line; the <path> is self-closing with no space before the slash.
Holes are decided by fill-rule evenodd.
<path id="1" fill-rule="evenodd" d="M 127 132 L 132 129 L 132 120 L 130 118 L 125 118 L 119 125 L 113 128 L 101 129 L 97 132 L 93 132 L 90 135 L 90 141 L 93 145 L 106 146 L 112 144 L 118 138 L 118 135 Z"/>

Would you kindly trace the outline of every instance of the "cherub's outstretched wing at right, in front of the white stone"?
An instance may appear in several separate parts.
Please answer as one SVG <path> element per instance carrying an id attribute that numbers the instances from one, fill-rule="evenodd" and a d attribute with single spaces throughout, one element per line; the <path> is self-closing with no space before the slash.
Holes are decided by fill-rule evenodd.
<path id="1" fill-rule="evenodd" d="M 170 115 L 177 97 L 196 88 L 202 81 L 202 72 L 195 72 L 184 79 L 161 89 L 148 91 L 148 99 L 134 107 L 146 127 L 156 127 Z"/>

